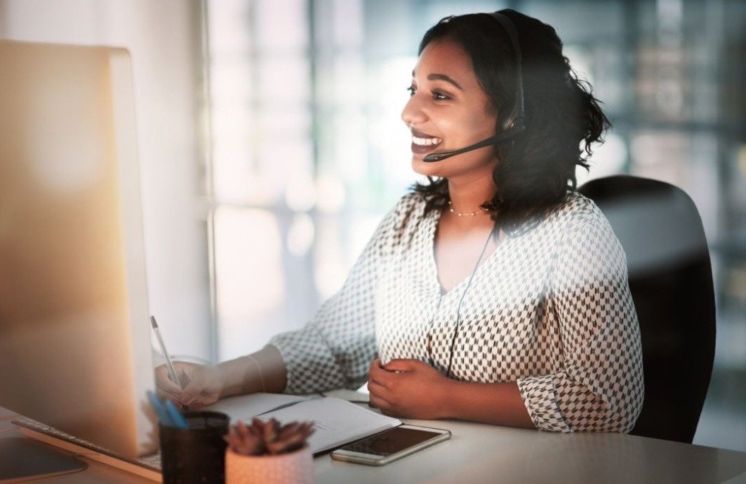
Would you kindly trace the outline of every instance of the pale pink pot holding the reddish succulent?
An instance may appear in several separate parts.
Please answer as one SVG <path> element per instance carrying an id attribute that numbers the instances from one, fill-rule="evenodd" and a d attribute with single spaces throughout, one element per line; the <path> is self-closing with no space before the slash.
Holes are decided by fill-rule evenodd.
<path id="1" fill-rule="evenodd" d="M 243 456 L 225 450 L 225 484 L 313 484 L 308 446 L 276 456 Z"/>

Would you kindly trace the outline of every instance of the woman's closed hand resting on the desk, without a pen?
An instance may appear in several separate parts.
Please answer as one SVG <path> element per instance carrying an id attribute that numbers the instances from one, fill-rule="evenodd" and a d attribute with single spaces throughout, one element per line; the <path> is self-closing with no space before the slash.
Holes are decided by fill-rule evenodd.
<path id="1" fill-rule="evenodd" d="M 433 420 L 448 418 L 445 395 L 454 380 L 418 359 L 392 359 L 370 365 L 370 403 L 386 415 Z"/>

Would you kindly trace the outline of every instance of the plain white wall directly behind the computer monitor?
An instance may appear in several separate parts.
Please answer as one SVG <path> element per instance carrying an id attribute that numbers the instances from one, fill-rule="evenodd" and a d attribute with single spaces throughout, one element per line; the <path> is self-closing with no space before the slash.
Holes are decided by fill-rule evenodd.
<path id="1" fill-rule="evenodd" d="M 210 358 L 207 242 L 199 209 L 198 4 L 0 0 L 0 38 L 130 50 L 151 313 L 169 351 Z"/>

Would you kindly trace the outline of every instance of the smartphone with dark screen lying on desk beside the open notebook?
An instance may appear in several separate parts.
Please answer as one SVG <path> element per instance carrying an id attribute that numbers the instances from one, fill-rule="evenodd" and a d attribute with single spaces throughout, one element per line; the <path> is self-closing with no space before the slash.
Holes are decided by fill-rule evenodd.
<path id="1" fill-rule="evenodd" d="M 331 458 L 358 464 L 384 465 L 448 439 L 451 439 L 448 430 L 400 425 L 334 450 Z"/>

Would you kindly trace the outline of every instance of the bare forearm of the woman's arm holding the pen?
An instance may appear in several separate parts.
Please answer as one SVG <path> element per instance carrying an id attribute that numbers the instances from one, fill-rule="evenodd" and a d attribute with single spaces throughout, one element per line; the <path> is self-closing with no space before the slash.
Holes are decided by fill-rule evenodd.
<path id="1" fill-rule="evenodd" d="M 285 362 L 277 348 L 267 345 L 256 353 L 216 365 L 220 398 L 247 393 L 280 393 L 285 389 Z"/>

